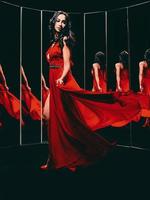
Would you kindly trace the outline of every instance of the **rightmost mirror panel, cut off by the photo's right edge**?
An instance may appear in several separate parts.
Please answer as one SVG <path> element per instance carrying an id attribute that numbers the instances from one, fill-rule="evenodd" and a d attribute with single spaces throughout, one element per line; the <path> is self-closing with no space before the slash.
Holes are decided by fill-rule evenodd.
<path id="1" fill-rule="evenodd" d="M 145 51 L 150 48 L 149 11 L 150 3 L 129 7 L 131 87 L 140 99 L 142 107 L 148 110 L 150 109 L 149 94 L 144 91 L 139 94 L 139 63 L 144 61 Z M 145 87 L 150 88 L 150 79 L 146 69 L 143 71 L 142 80 L 146 81 Z M 147 95 L 147 100 L 144 100 L 145 95 Z M 144 115 L 138 123 L 132 123 L 133 146 L 150 149 L 150 126 L 145 123 L 149 119 Z"/>

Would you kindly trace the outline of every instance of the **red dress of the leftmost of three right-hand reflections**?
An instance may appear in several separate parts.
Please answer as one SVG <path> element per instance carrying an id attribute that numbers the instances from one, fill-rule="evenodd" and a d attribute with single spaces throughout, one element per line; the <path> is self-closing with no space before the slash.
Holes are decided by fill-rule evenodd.
<path id="1" fill-rule="evenodd" d="M 97 88 L 97 83 L 93 72 L 92 75 L 93 75 L 93 89 L 94 91 L 98 92 L 99 90 Z M 100 87 L 102 88 L 102 93 L 106 93 L 107 92 L 106 70 L 98 69 L 98 77 L 99 77 Z"/>

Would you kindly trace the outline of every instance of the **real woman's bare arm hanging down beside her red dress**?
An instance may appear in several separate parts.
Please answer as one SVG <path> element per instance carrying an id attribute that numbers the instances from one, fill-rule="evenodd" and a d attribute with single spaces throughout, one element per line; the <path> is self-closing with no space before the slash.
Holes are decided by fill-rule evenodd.
<path id="1" fill-rule="evenodd" d="M 63 39 L 63 44 L 64 44 L 64 46 L 63 46 L 62 51 L 63 51 L 64 68 L 63 68 L 62 75 L 59 79 L 57 79 L 56 84 L 63 84 L 63 80 L 71 68 L 71 65 L 70 65 L 71 54 L 70 54 L 69 47 L 66 45 L 65 38 Z"/>

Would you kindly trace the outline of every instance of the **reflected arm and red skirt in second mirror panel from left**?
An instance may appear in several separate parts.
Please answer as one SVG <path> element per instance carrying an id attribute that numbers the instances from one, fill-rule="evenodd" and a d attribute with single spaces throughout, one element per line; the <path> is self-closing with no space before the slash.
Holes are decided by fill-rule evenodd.
<path id="1" fill-rule="evenodd" d="M 20 71 L 22 75 L 22 100 L 25 103 L 29 116 L 33 120 L 41 120 L 41 103 L 37 97 L 32 94 L 28 79 L 22 66 Z"/>

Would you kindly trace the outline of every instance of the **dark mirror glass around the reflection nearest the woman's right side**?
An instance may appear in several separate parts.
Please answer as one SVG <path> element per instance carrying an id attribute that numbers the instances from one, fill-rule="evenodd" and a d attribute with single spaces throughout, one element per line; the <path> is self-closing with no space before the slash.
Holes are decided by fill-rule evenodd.
<path id="1" fill-rule="evenodd" d="M 93 62 L 95 54 L 103 52 L 106 57 L 105 12 L 87 13 L 85 18 L 85 88 L 93 88 Z M 105 62 L 105 61 L 104 61 Z"/>

